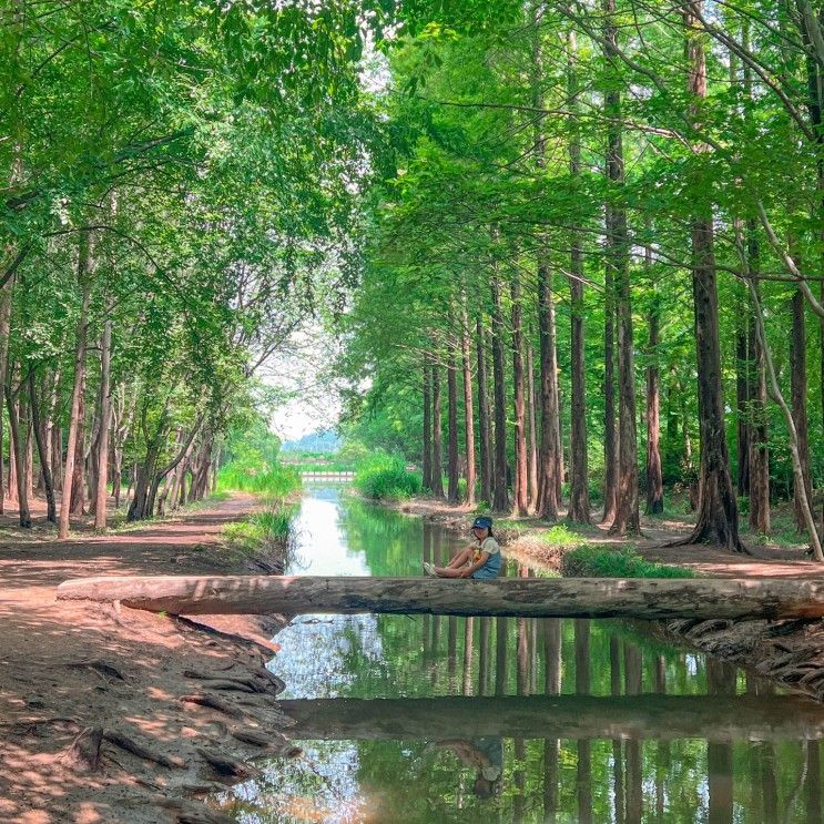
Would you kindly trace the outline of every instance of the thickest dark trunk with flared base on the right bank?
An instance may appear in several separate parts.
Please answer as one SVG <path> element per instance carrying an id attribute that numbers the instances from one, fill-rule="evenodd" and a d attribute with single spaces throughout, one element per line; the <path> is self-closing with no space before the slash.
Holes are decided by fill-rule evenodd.
<path id="1" fill-rule="evenodd" d="M 695 101 L 706 98 L 706 58 L 698 26 L 703 0 L 689 0 L 684 11 L 689 91 Z M 696 116 L 696 106 L 691 114 Z M 746 552 L 739 538 L 739 507 L 730 477 L 726 452 L 724 404 L 721 386 L 719 296 L 713 251 L 712 212 L 701 208 L 692 220 L 692 291 L 695 306 L 698 356 L 698 406 L 701 430 L 699 513 L 690 543 L 719 543 Z"/>

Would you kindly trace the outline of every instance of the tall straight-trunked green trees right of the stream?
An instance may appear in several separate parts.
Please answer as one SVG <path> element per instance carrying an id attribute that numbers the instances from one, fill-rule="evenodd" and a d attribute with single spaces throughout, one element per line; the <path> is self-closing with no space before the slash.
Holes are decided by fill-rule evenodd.
<path id="1" fill-rule="evenodd" d="M 821 553 L 821 10 L 440 3 L 389 55 L 345 426 L 437 498 Z M 423 450 L 421 450 L 423 445 Z M 442 469 L 442 471 L 441 471 Z M 817 490 L 817 491 L 816 491 Z M 671 495 L 672 494 L 672 495 Z M 816 527 L 817 523 L 817 527 Z"/>

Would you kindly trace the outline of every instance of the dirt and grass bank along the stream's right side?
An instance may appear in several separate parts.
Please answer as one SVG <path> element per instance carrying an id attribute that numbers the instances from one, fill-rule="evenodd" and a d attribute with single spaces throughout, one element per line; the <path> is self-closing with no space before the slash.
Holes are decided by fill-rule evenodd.
<path id="1" fill-rule="evenodd" d="M 439 523 L 461 535 L 469 533 L 474 511 L 442 501 L 415 499 L 397 508 Z M 716 578 L 821 578 L 824 568 L 804 559 L 801 547 L 753 543 L 751 556 L 734 555 L 704 545 L 668 547 L 689 535 L 686 518 L 644 518 L 643 537 L 633 540 L 607 535 L 600 526 L 568 528 L 535 518 L 496 520 L 496 536 L 506 553 L 519 562 L 558 573 L 563 556 L 581 545 L 614 551 L 632 550 L 645 561 Z M 668 621 L 658 624 L 670 640 L 695 648 L 774 681 L 785 689 L 824 702 L 823 621 Z"/>

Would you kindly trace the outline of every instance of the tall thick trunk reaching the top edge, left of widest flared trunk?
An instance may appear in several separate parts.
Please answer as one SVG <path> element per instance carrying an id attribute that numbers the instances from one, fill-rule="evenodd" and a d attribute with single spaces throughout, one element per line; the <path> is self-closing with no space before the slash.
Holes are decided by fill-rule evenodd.
<path id="1" fill-rule="evenodd" d="M 606 55 L 618 68 L 618 29 L 613 16 L 616 0 L 604 0 Z M 621 126 L 621 93 L 613 85 L 604 99 L 607 126 L 607 175 L 613 184 L 617 203 L 609 210 L 607 226 L 607 265 L 614 271 L 616 315 L 618 321 L 618 397 L 619 397 L 619 472 L 616 517 L 611 535 L 637 535 L 641 531 L 638 500 L 638 435 L 635 419 L 635 363 L 630 289 L 630 246 L 627 234 L 627 211 L 623 206 L 623 135 Z"/>

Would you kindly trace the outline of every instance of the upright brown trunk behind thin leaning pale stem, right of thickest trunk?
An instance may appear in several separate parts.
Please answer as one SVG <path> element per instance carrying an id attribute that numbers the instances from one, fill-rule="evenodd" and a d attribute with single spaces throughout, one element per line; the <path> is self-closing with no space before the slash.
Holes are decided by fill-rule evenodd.
<path id="1" fill-rule="evenodd" d="M 759 245 L 754 236 L 754 222 L 747 225 L 747 258 L 750 272 L 759 272 Z M 753 394 L 750 396 L 750 529 L 759 535 L 770 533 L 770 452 L 766 426 L 766 364 L 751 322 L 753 353 Z"/>

